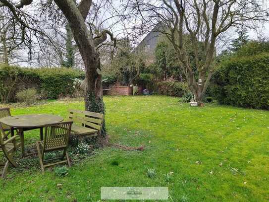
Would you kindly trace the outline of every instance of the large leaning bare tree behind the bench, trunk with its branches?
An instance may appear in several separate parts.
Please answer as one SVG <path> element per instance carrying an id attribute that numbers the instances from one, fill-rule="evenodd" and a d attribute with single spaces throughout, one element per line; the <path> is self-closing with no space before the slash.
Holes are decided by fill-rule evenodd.
<path id="1" fill-rule="evenodd" d="M 78 4 L 74 0 L 54 0 L 54 2 L 57 7 L 52 5 L 52 1 L 42 1 L 44 10 L 56 13 L 57 9 L 59 9 L 72 30 L 86 71 L 85 109 L 105 114 L 100 53 L 97 49 L 107 41 L 108 36 L 111 41 L 115 41 L 115 38 L 107 29 L 91 34 L 90 27 L 85 20 L 93 7 L 92 0 L 81 0 Z M 111 3 L 110 1 L 106 2 Z M 25 13 L 22 8 L 31 3 L 33 3 L 32 0 L 20 0 L 17 4 L 13 4 L 9 0 L 0 0 L 0 6 L 8 7 L 24 30 L 33 30 L 21 18 L 21 14 Z M 36 31 L 38 32 L 39 30 Z M 103 127 L 102 134 L 105 135 L 105 133 L 105 127 Z"/>

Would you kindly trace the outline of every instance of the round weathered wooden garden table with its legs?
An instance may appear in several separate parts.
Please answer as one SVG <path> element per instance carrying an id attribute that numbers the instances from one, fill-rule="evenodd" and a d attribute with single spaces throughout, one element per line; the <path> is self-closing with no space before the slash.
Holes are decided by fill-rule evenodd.
<path id="1" fill-rule="evenodd" d="M 40 139 L 43 140 L 43 128 L 46 125 L 57 124 L 63 121 L 63 118 L 49 114 L 32 114 L 11 116 L 0 119 L 0 122 L 11 128 L 11 135 L 14 135 L 14 130 L 19 131 L 21 139 L 21 153 L 24 156 L 24 131 L 40 129 Z"/>

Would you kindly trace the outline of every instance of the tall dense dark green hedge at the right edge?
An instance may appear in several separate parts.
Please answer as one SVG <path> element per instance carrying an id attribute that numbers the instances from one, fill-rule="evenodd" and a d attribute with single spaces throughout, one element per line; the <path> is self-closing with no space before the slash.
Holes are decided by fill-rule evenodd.
<path id="1" fill-rule="evenodd" d="M 269 109 L 269 53 L 221 62 L 214 83 L 221 104 Z"/>

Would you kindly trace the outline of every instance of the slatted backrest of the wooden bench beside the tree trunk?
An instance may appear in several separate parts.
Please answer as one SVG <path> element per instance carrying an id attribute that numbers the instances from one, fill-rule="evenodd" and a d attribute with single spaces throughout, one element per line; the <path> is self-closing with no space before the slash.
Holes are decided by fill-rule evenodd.
<path id="1" fill-rule="evenodd" d="M 68 112 L 68 118 L 70 121 L 82 124 L 82 126 L 86 128 L 101 131 L 104 121 L 104 114 L 74 109 L 69 109 Z"/>

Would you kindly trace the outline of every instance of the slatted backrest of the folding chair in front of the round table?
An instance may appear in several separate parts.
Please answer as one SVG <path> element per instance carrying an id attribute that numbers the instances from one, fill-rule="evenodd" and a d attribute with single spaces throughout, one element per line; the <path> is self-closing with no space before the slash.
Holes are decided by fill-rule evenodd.
<path id="1" fill-rule="evenodd" d="M 67 147 L 72 123 L 73 122 L 61 122 L 47 125 L 45 127 L 43 152 Z"/>

